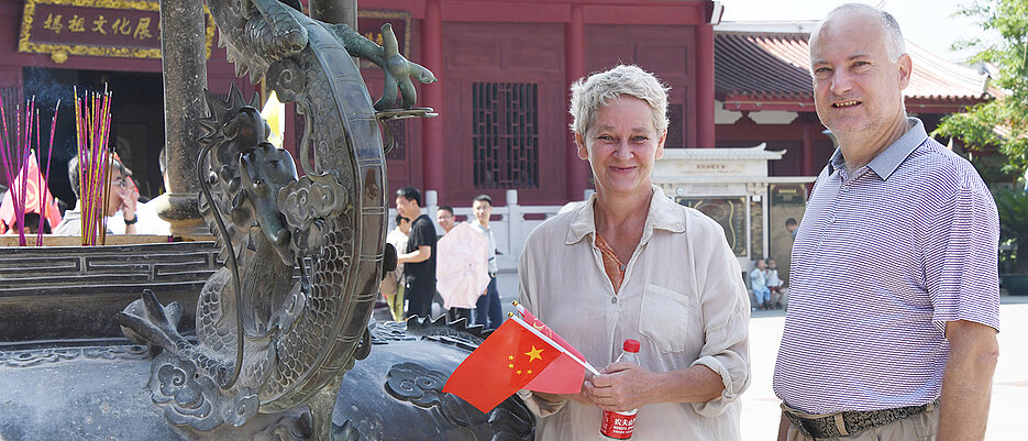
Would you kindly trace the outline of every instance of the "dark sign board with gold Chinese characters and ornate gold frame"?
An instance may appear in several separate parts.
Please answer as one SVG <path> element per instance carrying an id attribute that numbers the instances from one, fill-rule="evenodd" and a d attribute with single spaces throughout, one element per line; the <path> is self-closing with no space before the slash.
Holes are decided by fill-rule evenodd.
<path id="1" fill-rule="evenodd" d="M 69 55 L 161 58 L 159 9 L 145 0 L 25 0 L 18 51 L 49 54 L 56 63 Z M 210 58 L 214 21 L 203 10 Z"/>

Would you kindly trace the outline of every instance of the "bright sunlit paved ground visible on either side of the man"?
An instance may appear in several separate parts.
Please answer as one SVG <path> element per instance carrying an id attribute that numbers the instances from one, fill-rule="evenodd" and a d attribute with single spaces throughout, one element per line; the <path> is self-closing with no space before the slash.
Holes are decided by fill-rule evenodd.
<path id="1" fill-rule="evenodd" d="M 500 273 L 497 280 L 505 310 L 518 298 L 517 273 Z M 999 365 L 993 379 L 988 441 L 1024 440 L 1024 404 L 1028 398 L 1028 296 L 1004 296 L 1001 307 Z M 750 320 L 752 383 L 742 398 L 742 434 L 747 441 L 774 440 L 778 399 L 771 389 L 784 311 L 755 311 Z"/>

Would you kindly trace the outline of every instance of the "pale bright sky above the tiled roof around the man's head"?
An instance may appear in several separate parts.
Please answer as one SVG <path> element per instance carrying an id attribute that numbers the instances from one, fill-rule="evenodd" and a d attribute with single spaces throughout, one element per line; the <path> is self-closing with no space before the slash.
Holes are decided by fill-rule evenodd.
<path id="1" fill-rule="evenodd" d="M 907 40 L 951 60 L 972 55 L 966 51 L 951 52 L 949 47 L 954 41 L 981 32 L 973 19 L 951 16 L 959 5 L 972 0 L 721 0 L 725 5 L 721 20 L 819 20 L 837 5 L 849 2 L 884 3 L 884 9 L 899 21 Z"/>

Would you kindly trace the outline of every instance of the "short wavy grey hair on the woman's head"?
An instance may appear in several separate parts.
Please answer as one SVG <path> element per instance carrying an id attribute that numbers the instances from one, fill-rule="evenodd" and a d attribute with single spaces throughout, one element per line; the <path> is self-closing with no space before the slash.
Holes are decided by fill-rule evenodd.
<path id="1" fill-rule="evenodd" d="M 657 133 L 664 133 L 667 130 L 667 90 L 670 89 L 653 74 L 633 65 L 620 65 L 607 71 L 593 74 L 588 78 L 579 78 L 571 86 L 568 112 L 575 119 L 571 124 L 571 130 L 584 136 L 593 126 L 596 111 L 600 106 L 627 95 L 650 104 L 653 111 L 653 126 L 656 128 Z"/>

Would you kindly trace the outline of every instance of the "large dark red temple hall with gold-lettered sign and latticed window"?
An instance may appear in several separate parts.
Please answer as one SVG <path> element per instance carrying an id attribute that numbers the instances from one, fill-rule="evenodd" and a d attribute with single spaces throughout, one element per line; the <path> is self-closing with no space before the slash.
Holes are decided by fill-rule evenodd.
<path id="1" fill-rule="evenodd" d="M 506 189 L 519 190 L 526 205 L 581 199 L 589 170 L 571 148 L 567 87 L 619 62 L 639 64 L 672 87 L 668 146 L 715 146 L 711 22 L 721 15 L 718 2 L 361 0 L 358 7 L 360 32 L 377 40 L 379 26 L 391 23 L 400 51 L 439 78 L 418 86 L 419 104 L 439 118 L 391 123 L 393 190 L 414 185 L 453 205 L 482 192 L 505 203 Z M 52 108 L 62 98 L 60 112 L 70 117 L 65 106 L 73 86 L 107 85 L 114 95 L 111 142 L 141 191 L 153 196 L 164 144 L 158 3 L 0 0 L 0 29 L 9 30 L 0 35 L 4 106 L 35 96 Z M 261 90 L 235 78 L 213 24 L 207 29 L 210 90 L 223 95 L 231 82 L 247 96 Z M 373 66 L 364 73 L 372 96 L 378 95 L 382 74 Z M 56 164 L 74 150 L 74 120 L 59 124 Z M 295 150 L 300 124 L 286 119 L 286 148 Z M 55 194 L 70 201 L 57 175 Z"/>

